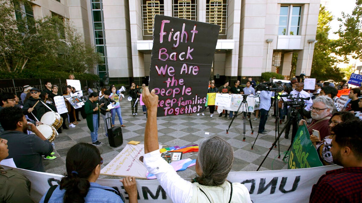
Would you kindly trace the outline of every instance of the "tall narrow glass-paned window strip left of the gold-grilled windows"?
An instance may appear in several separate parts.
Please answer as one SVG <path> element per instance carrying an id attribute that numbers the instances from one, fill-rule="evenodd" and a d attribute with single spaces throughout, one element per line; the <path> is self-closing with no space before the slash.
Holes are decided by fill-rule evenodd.
<path id="1" fill-rule="evenodd" d="M 104 34 L 103 4 L 102 0 L 91 0 L 91 4 L 94 44 L 96 46 L 96 52 L 100 57 L 100 61 L 97 64 L 97 71 L 99 77 L 103 78 L 103 76 L 108 73 L 106 36 Z"/>

